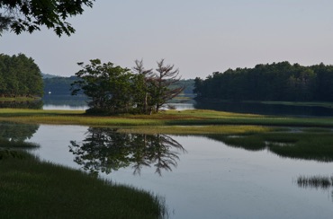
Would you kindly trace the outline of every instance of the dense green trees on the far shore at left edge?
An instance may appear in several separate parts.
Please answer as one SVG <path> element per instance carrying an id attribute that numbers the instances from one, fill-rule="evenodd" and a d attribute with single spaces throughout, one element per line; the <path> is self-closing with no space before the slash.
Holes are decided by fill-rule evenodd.
<path id="1" fill-rule="evenodd" d="M 0 54 L 0 97 L 42 96 L 40 68 L 23 54 Z"/>

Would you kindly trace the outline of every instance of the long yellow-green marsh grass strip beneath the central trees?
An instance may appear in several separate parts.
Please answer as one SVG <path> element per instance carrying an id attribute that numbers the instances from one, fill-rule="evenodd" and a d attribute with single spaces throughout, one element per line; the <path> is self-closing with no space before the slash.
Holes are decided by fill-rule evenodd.
<path id="1" fill-rule="evenodd" d="M 155 115 L 87 116 L 83 110 L 0 109 L 0 120 L 34 124 L 98 127 L 162 127 L 252 125 L 275 127 L 333 127 L 333 118 L 293 118 L 229 113 L 214 110 L 166 110 Z M 172 127 L 173 129 L 174 127 Z"/>

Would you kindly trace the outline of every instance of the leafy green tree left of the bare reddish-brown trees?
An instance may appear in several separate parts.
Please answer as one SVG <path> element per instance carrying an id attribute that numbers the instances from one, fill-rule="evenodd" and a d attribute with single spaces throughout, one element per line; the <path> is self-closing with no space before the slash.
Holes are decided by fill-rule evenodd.
<path id="1" fill-rule="evenodd" d="M 114 66 L 100 59 L 90 60 L 90 65 L 78 63 L 83 69 L 76 73 L 79 79 L 72 83 L 72 94 L 81 90 L 89 98 L 87 112 L 121 113 L 133 107 L 130 70 Z"/>

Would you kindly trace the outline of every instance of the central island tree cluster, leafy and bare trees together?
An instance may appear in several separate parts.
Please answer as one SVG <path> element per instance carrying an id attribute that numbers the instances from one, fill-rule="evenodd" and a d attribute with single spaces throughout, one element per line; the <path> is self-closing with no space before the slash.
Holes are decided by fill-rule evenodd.
<path id="1" fill-rule="evenodd" d="M 89 98 L 87 112 L 91 113 L 140 113 L 151 114 L 158 110 L 184 87 L 171 88 L 180 80 L 174 66 L 157 62 L 157 69 L 145 69 L 141 61 L 135 62 L 133 72 L 128 68 L 102 64 L 99 59 L 76 73 L 79 80 L 72 83 L 72 94 L 83 91 Z"/>

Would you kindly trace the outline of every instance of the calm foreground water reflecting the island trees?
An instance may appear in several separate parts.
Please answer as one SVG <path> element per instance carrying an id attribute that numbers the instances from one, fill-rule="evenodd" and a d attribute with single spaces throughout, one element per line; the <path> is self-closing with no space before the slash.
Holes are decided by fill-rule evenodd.
<path id="1" fill-rule="evenodd" d="M 331 176 L 332 162 L 251 152 L 205 136 L 120 135 L 78 126 L 29 130 L 28 141 L 40 144 L 32 153 L 42 160 L 153 191 L 166 198 L 170 218 L 333 215 L 332 188 L 301 188 L 296 183 L 301 175 Z"/>

